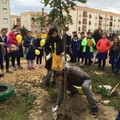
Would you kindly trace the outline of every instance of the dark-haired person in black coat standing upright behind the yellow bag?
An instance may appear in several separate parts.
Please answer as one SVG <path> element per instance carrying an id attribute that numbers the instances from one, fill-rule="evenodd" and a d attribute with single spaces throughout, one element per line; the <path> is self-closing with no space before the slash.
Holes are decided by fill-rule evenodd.
<path id="1" fill-rule="evenodd" d="M 45 87 L 48 88 L 50 84 L 50 78 L 52 76 L 52 53 L 60 55 L 63 52 L 63 43 L 58 35 L 58 30 L 56 28 L 51 28 L 48 33 L 48 38 L 45 43 L 45 53 L 46 53 L 46 65 L 47 69 Z M 56 76 L 54 71 L 52 86 L 56 83 Z"/>

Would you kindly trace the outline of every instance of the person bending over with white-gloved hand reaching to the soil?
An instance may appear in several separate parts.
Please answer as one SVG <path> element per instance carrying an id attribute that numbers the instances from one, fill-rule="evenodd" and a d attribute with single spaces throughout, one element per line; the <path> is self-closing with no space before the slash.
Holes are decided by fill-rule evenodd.
<path id="1" fill-rule="evenodd" d="M 92 84 L 90 76 L 79 67 L 69 66 L 68 63 L 65 63 L 64 67 L 67 70 L 67 90 L 70 91 L 71 94 L 77 94 L 78 89 L 74 86 L 81 86 L 91 107 L 90 113 L 95 115 L 98 112 L 98 103 L 89 88 L 89 86 Z M 57 112 L 58 107 L 61 105 L 64 97 L 64 70 L 57 72 L 56 78 L 58 81 L 60 81 L 60 93 L 57 98 L 56 107 L 52 110 L 53 113 Z"/>

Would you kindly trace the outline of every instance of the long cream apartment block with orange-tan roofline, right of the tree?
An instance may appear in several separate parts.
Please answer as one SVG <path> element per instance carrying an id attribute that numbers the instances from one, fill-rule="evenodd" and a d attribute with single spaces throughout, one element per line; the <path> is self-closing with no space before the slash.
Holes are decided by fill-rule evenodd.
<path id="1" fill-rule="evenodd" d="M 75 10 L 70 9 L 70 15 L 73 19 L 70 32 L 94 32 L 98 28 L 108 33 L 120 30 L 120 14 L 77 6 Z"/>

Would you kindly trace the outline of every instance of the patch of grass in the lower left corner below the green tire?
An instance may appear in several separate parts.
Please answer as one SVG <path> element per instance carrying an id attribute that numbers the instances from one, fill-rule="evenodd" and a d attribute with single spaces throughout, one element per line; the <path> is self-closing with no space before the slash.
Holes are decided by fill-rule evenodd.
<path id="1" fill-rule="evenodd" d="M 0 103 L 0 120 L 28 120 L 27 112 L 33 107 L 35 96 L 29 93 L 13 95 Z"/>

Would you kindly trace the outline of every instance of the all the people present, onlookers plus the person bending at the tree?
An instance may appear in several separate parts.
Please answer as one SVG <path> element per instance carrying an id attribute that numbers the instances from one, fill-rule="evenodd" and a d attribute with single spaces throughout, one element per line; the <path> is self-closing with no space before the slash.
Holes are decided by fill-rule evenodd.
<path id="1" fill-rule="evenodd" d="M 23 69 L 21 57 L 24 57 L 24 55 L 26 56 L 27 69 L 34 70 L 34 60 L 36 60 L 36 64 L 40 68 L 42 65 L 42 57 L 45 52 L 45 68 L 47 69 L 45 88 L 49 88 L 52 74 L 52 86 L 55 86 L 56 79 L 60 81 L 60 95 L 58 96 L 56 107 L 53 109 L 54 112 L 56 112 L 58 106 L 60 106 L 64 93 L 64 69 L 59 66 L 62 62 L 60 57 L 64 52 L 64 45 L 66 45 L 66 53 L 71 58 L 69 62 L 73 64 L 79 63 L 80 66 L 89 67 L 92 63 L 98 63 L 98 69 L 104 70 L 106 59 L 109 57 L 112 74 L 117 75 L 120 69 L 119 38 L 115 35 L 113 39 L 110 40 L 107 33 L 103 32 L 101 29 L 95 30 L 93 34 L 90 31 L 88 31 L 86 35 L 84 32 L 81 32 L 80 36 L 78 36 L 76 31 L 70 34 L 69 28 L 66 28 L 66 37 L 64 39 L 64 36 L 59 36 L 57 28 L 53 27 L 49 30 L 44 46 L 40 45 L 42 39 L 40 37 L 33 37 L 31 31 L 27 31 L 26 36 L 22 37 L 23 41 L 21 42 L 17 40 L 17 35 L 21 35 L 18 25 L 15 25 L 8 35 L 6 29 L 1 30 L 0 77 L 4 77 L 5 73 L 4 60 L 6 63 L 6 73 L 12 73 L 14 70 L 17 70 L 17 68 Z M 35 54 L 36 49 L 40 51 L 39 55 Z M 56 66 L 53 65 L 55 60 L 57 61 Z M 10 70 L 10 61 L 12 71 Z M 17 65 L 15 64 L 16 61 Z M 87 96 L 88 103 L 91 106 L 91 113 L 95 114 L 98 111 L 98 105 L 94 95 L 89 89 L 92 82 L 90 76 L 79 67 L 75 65 L 70 67 L 66 64 L 64 67 L 66 66 L 67 69 L 67 89 L 72 94 L 76 94 L 78 90 L 73 86 L 82 86 Z M 59 71 L 57 71 L 55 67 L 59 68 Z"/>

